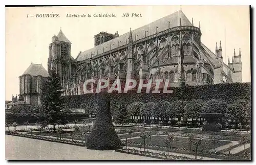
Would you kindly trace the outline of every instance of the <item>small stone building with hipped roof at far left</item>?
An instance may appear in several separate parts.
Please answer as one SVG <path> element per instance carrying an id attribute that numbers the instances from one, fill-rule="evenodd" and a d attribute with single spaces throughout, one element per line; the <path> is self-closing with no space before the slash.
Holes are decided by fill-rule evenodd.
<path id="1" fill-rule="evenodd" d="M 24 104 L 41 104 L 41 85 L 49 74 L 41 64 L 31 63 L 22 76 L 19 76 L 19 101 Z"/>

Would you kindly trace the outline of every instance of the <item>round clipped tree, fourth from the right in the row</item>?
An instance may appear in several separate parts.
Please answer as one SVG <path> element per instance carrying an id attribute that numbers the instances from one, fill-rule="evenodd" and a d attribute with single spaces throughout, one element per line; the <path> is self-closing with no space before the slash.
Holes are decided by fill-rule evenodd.
<path id="1" fill-rule="evenodd" d="M 167 114 L 171 117 L 178 117 L 178 120 L 180 121 L 186 104 L 187 102 L 183 100 L 175 100 L 170 102 L 169 107 L 167 108 Z"/>

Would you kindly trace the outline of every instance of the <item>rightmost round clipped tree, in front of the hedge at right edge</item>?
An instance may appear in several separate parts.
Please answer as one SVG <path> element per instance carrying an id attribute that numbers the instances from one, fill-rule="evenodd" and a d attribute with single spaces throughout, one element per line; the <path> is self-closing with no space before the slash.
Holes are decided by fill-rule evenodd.
<path id="1" fill-rule="evenodd" d="M 240 123 L 247 123 L 250 119 L 250 107 L 245 100 L 236 100 L 232 104 L 228 105 L 227 118 L 230 120 L 236 120 Z"/>

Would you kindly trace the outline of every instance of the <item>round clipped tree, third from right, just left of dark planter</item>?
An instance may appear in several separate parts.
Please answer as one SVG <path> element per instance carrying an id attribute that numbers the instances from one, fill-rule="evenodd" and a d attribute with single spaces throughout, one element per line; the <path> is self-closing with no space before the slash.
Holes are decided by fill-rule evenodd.
<path id="1" fill-rule="evenodd" d="M 186 119 L 197 119 L 200 117 L 201 108 L 204 104 L 204 101 L 201 99 L 191 100 L 184 107 L 184 117 Z"/>

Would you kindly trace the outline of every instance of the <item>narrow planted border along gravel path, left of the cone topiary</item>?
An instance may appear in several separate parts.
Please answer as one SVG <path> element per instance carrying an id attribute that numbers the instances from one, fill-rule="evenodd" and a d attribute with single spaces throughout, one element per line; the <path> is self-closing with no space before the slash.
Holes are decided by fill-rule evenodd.
<path id="1" fill-rule="evenodd" d="M 76 140 L 67 140 L 67 139 L 58 139 L 58 138 L 52 138 L 52 137 L 45 137 L 45 136 L 39 136 L 39 135 L 31 135 L 31 134 L 21 134 L 21 133 L 15 133 L 15 132 L 8 132 L 7 135 L 12 136 L 20 136 L 20 137 L 27 137 L 27 138 L 33 138 L 33 139 L 39 139 L 39 140 L 46 140 L 48 142 L 57 142 L 57 143 L 63 143 L 63 144 L 69 144 L 69 145 L 76 145 L 76 146 L 86 146 L 82 142 L 78 142 Z"/>

